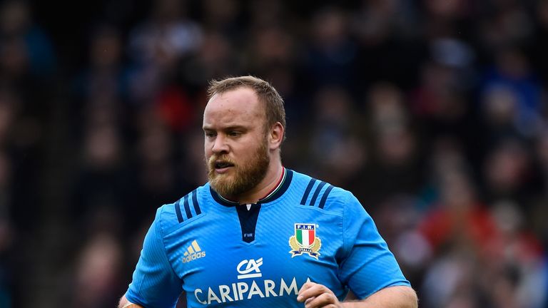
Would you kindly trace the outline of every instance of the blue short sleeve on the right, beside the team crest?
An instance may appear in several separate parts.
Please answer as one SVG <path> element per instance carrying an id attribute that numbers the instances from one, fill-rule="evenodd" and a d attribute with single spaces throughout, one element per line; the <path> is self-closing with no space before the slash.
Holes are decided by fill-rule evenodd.
<path id="1" fill-rule="evenodd" d="M 375 222 L 349 193 L 343 214 L 345 257 L 339 278 L 360 299 L 392 286 L 410 286 Z"/>

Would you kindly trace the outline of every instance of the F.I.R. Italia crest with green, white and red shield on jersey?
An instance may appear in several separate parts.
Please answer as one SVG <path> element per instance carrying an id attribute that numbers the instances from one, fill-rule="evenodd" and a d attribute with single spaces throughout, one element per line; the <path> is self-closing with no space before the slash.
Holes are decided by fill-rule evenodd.
<path id="1" fill-rule="evenodd" d="M 315 257 L 318 260 L 322 241 L 320 237 L 316 237 L 316 225 L 295 224 L 295 235 L 289 238 L 289 246 L 292 249 L 290 251 L 291 257 L 308 253 L 310 257 Z"/>

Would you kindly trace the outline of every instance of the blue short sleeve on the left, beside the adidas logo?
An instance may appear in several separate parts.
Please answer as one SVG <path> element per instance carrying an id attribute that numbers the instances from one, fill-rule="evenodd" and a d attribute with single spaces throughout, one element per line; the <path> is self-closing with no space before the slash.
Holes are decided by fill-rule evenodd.
<path id="1" fill-rule="evenodd" d="M 126 292 L 129 302 L 146 308 L 173 308 L 182 292 L 181 279 L 173 272 L 163 243 L 162 208 L 146 234 L 133 281 Z"/>

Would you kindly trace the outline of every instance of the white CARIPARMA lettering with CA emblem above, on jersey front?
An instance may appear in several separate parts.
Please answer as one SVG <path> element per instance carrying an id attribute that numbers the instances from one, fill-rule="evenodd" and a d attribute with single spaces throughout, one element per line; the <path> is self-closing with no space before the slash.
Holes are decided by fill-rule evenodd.
<path id="1" fill-rule="evenodd" d="M 303 284 L 298 286 L 295 277 L 290 282 L 281 278 L 279 281 L 272 279 L 248 280 L 251 278 L 263 277 L 260 272 L 260 266 L 263 265 L 263 258 L 258 260 L 243 260 L 238 264 L 238 279 L 247 279 L 232 284 L 221 284 L 218 287 L 208 287 L 208 289 L 195 289 L 194 296 L 196 300 L 204 305 L 213 303 L 238 302 L 254 297 L 282 297 L 284 295 L 296 296 L 303 284 L 310 282 L 307 278 Z"/>

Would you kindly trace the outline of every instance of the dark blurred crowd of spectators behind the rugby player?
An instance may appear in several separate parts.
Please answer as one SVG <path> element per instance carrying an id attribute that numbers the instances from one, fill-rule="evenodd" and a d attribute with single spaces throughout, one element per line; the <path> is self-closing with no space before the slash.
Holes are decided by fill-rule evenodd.
<path id="1" fill-rule="evenodd" d="M 342 2 L 0 1 L 0 307 L 116 307 L 241 74 L 421 307 L 548 307 L 548 1 Z"/>

